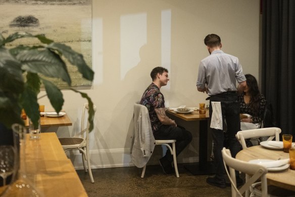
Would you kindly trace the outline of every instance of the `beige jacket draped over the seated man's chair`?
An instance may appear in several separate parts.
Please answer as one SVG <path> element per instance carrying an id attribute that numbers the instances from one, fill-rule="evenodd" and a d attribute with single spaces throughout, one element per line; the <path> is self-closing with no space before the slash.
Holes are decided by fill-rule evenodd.
<path id="1" fill-rule="evenodd" d="M 138 168 L 149 162 L 155 148 L 149 111 L 144 105 L 134 104 L 131 162 Z"/>

